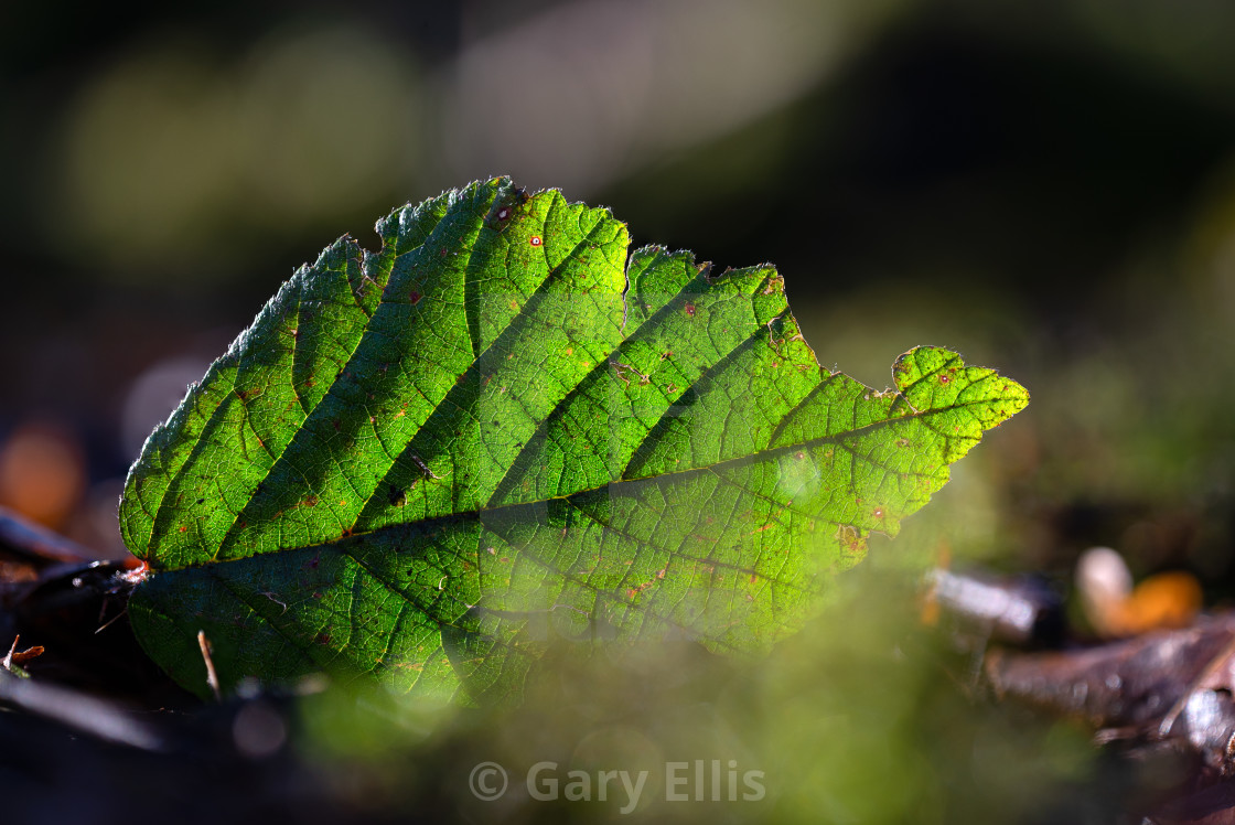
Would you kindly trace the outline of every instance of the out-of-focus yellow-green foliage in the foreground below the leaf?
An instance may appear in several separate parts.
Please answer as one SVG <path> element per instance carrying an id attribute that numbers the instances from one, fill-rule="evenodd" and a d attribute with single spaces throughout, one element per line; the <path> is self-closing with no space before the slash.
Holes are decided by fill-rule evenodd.
<path id="1" fill-rule="evenodd" d="M 1097 804 L 1126 790 L 1130 779 L 1102 776 L 1079 727 L 966 699 L 944 677 L 955 653 L 918 622 L 903 578 L 856 573 L 842 590 L 758 662 L 688 643 L 585 663 L 559 650 L 514 711 L 327 692 L 303 703 L 298 741 L 322 782 L 362 810 L 472 821 L 622 819 L 621 792 L 606 803 L 531 798 L 526 776 L 546 761 L 559 774 L 647 771 L 637 815 L 657 821 L 1063 821 L 1052 815 L 1074 813 L 1082 788 Z M 703 800 L 667 800 L 695 793 L 697 760 Z M 719 802 L 713 761 L 722 766 Z M 477 799 L 468 784 L 482 762 L 506 771 L 498 800 Z M 674 762 L 689 764 L 678 774 L 688 782 L 671 789 Z M 762 772 L 762 798 L 729 800 L 731 762 L 739 777 Z"/>

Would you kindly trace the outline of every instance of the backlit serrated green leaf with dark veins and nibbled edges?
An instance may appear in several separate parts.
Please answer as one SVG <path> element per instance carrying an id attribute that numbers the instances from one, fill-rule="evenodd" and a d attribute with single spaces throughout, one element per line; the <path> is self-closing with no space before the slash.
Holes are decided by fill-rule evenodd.
<path id="1" fill-rule="evenodd" d="M 758 651 L 1028 403 L 919 348 L 821 369 L 769 266 L 627 257 L 608 210 L 477 183 L 301 267 L 149 437 L 128 613 L 206 690 L 326 671 L 484 700 L 553 639 Z"/>

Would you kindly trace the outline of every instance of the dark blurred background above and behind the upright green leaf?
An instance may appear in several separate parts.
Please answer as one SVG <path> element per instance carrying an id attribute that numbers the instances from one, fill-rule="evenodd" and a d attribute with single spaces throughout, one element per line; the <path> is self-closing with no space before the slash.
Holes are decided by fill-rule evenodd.
<path id="1" fill-rule="evenodd" d="M 932 343 L 1030 389 L 876 568 L 1062 579 L 1110 545 L 1235 592 L 1230 4 L 0 17 L 0 504 L 104 555 L 144 435 L 295 266 L 510 174 L 636 243 L 772 261 L 824 366 L 882 388 Z"/>

